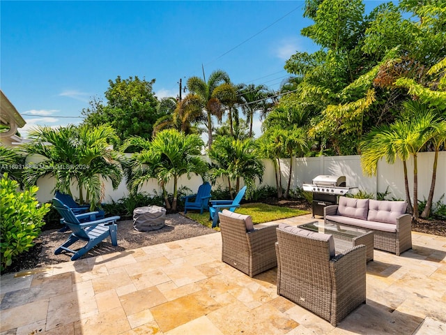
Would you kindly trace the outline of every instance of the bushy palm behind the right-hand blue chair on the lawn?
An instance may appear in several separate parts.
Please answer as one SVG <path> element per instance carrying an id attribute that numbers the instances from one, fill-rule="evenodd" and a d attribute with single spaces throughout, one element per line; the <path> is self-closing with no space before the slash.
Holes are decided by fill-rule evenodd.
<path id="1" fill-rule="evenodd" d="M 208 156 L 212 161 L 210 177 L 213 183 L 218 177 L 227 177 L 231 198 L 233 193 L 240 190 L 240 179 L 243 178 L 248 194 L 254 191 L 256 179 L 260 182 L 263 180 L 264 166 L 252 139 L 235 140 L 227 136 L 217 137 L 213 147 L 208 151 Z M 231 181 L 236 182 L 235 190 Z"/>

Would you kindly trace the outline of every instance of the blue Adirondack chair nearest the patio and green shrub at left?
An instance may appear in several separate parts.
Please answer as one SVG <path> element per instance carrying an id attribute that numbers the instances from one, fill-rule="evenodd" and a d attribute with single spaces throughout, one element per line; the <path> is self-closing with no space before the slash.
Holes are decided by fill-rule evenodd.
<path id="1" fill-rule="evenodd" d="M 60 200 L 53 198 L 53 206 L 59 211 L 63 218 L 63 224 L 67 225 L 72 233 L 68 237 L 67 241 L 56 248 L 55 255 L 58 255 L 62 251 L 68 251 L 73 253 L 71 260 L 77 260 L 77 258 L 84 255 L 91 248 L 96 246 L 100 241 L 110 237 L 112 239 L 112 245 L 118 245 L 118 239 L 116 237 L 117 225 L 120 216 L 112 216 L 109 218 L 97 219 L 97 211 L 91 211 L 89 213 L 75 215 L 66 204 L 63 204 Z M 84 221 L 84 220 L 87 221 Z M 84 222 L 82 222 L 84 221 Z M 76 241 L 86 241 L 86 245 L 79 250 L 75 251 L 68 248 Z"/>

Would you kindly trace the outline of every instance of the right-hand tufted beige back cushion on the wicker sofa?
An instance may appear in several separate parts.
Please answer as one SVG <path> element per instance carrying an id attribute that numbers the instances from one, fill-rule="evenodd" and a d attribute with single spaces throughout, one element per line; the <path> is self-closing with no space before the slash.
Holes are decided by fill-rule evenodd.
<path id="1" fill-rule="evenodd" d="M 370 200 L 367 220 L 397 224 L 397 218 L 406 213 L 405 201 Z"/>

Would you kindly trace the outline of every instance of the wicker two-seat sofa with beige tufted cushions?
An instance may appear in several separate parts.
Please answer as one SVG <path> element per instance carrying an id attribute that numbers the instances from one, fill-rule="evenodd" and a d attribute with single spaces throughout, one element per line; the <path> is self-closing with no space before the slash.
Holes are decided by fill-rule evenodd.
<path id="1" fill-rule="evenodd" d="M 412 217 L 404 201 L 339 197 L 324 208 L 324 222 L 374 232 L 374 248 L 400 255 L 412 248 Z"/>

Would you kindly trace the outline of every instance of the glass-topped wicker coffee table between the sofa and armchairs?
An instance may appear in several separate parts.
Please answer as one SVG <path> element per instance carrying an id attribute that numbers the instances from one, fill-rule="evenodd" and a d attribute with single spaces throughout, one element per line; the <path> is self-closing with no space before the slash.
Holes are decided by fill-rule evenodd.
<path id="1" fill-rule="evenodd" d="M 311 232 L 322 232 L 333 235 L 334 250 L 336 253 L 342 253 L 353 246 L 364 244 L 367 248 L 367 262 L 374 259 L 374 232 L 361 228 L 348 227 L 337 223 L 323 223 L 312 221 L 298 228 L 309 230 Z"/>

